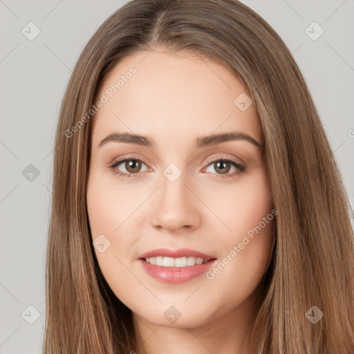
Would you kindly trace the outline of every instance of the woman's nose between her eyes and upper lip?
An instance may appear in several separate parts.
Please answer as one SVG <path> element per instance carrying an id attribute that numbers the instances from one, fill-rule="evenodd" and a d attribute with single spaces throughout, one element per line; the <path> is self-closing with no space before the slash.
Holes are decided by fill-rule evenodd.
<path id="1" fill-rule="evenodd" d="M 173 182 L 162 174 L 160 188 L 151 201 L 151 225 L 170 232 L 185 232 L 198 227 L 201 215 L 198 198 L 182 173 Z"/>

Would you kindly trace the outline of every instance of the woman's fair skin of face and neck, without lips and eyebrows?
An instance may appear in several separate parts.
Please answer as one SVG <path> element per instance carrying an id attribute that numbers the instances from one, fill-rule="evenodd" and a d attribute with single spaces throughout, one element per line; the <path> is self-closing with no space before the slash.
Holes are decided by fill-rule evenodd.
<path id="1" fill-rule="evenodd" d="M 252 227 L 272 210 L 261 149 L 246 140 L 196 149 L 194 139 L 241 131 L 262 141 L 257 111 L 241 111 L 234 100 L 245 88 L 221 64 L 187 52 L 156 48 L 125 57 L 104 80 L 97 97 L 134 66 L 136 74 L 93 118 L 87 205 L 93 240 L 111 245 L 95 255 L 115 295 L 133 312 L 145 353 L 241 353 L 252 326 L 256 288 L 267 269 L 273 221 L 255 234 L 225 268 L 185 283 L 163 283 L 142 269 L 138 256 L 156 248 L 192 248 L 222 261 Z M 155 147 L 100 142 L 111 133 L 150 136 Z M 133 156 L 139 168 L 122 162 Z M 208 158 L 234 159 L 245 171 L 226 165 L 224 176 Z M 174 163 L 182 172 L 173 183 L 163 171 Z M 136 171 L 136 172 L 134 172 Z M 225 171 L 225 170 L 224 170 Z M 169 322 L 175 306 L 180 318 Z M 132 348 L 137 350 L 137 348 Z M 141 347 L 138 348 L 141 353 Z"/>

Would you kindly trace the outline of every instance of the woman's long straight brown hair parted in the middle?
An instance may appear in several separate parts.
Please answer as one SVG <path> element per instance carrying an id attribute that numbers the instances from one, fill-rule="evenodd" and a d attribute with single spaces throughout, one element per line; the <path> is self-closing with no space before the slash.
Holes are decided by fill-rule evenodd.
<path id="1" fill-rule="evenodd" d="M 43 353 L 138 351 L 131 311 L 109 288 L 93 252 L 87 112 L 120 59 L 156 46 L 222 63 L 257 107 L 278 214 L 248 353 L 354 353 L 353 210 L 295 60 L 277 33 L 236 0 L 133 0 L 84 48 L 55 139 Z M 323 313 L 317 323 L 310 320 L 319 314 L 313 306 Z"/>

